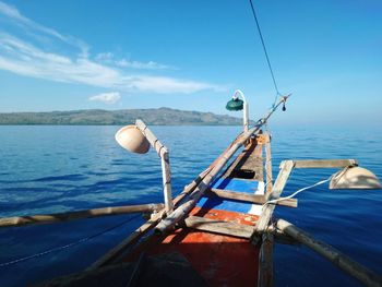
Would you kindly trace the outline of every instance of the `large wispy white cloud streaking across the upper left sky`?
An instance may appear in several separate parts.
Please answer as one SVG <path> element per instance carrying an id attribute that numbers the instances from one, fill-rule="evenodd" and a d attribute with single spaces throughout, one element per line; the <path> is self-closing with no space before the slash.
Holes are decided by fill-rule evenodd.
<path id="1" fill-rule="evenodd" d="M 190 94 L 203 89 L 222 89 L 210 83 L 131 72 L 131 69 L 140 71 L 170 69 L 169 65 L 155 61 L 116 59 L 111 52 L 98 53 L 92 58 L 88 45 L 81 39 L 64 36 L 43 26 L 22 15 L 16 8 L 1 1 L 0 17 L 8 26 L 16 27 L 12 29 L 7 29 L 7 25 L 0 27 L 2 70 L 50 81 L 138 93 Z M 130 71 L 124 71 L 124 68 L 129 68 Z"/>

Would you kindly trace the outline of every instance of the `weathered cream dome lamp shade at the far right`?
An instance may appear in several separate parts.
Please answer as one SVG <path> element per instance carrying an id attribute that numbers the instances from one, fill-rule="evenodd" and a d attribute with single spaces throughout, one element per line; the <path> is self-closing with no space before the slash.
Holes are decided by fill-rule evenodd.
<path id="1" fill-rule="evenodd" d="M 336 172 L 330 189 L 382 189 L 381 182 L 370 170 L 362 167 L 347 167 Z"/>

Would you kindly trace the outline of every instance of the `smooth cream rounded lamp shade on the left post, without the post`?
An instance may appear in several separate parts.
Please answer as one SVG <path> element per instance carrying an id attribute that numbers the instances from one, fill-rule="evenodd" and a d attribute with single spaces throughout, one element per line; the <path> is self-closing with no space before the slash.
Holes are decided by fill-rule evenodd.
<path id="1" fill-rule="evenodd" d="M 150 143 L 136 125 L 126 125 L 116 133 L 116 141 L 123 148 L 138 154 L 145 154 Z"/>

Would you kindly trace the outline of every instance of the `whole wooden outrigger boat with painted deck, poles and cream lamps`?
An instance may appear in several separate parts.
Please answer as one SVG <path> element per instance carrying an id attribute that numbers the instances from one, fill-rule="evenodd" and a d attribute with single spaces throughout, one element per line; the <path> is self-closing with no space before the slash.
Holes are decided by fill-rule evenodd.
<path id="1" fill-rule="evenodd" d="M 362 284 L 382 286 L 380 275 L 273 217 L 277 205 L 297 207 L 296 199 L 282 198 L 295 168 L 344 168 L 322 181 L 331 181 L 331 188 L 381 188 L 375 176 L 359 168 L 355 159 L 284 160 L 274 181 L 271 136 L 261 128 L 287 98 L 282 97 L 251 129 L 244 119 L 244 131 L 174 200 L 168 150 L 138 120 L 116 137 L 130 151 L 144 153 L 150 145 L 156 150 L 163 167 L 164 204 L 1 218 L 0 226 L 152 213 L 145 224 L 86 271 L 38 286 L 273 286 L 275 242 L 305 244 Z M 241 146 L 243 150 L 224 169 Z"/>

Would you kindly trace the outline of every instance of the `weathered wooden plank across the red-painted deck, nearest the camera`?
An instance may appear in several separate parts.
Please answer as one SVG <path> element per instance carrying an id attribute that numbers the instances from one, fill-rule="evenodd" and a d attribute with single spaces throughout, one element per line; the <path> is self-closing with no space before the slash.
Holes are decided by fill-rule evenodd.
<path id="1" fill-rule="evenodd" d="M 199 216 L 187 217 L 184 224 L 192 229 L 246 239 L 249 239 L 253 231 L 253 226 L 207 219 Z"/>

